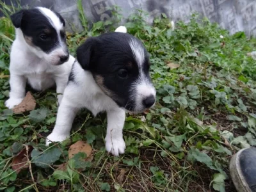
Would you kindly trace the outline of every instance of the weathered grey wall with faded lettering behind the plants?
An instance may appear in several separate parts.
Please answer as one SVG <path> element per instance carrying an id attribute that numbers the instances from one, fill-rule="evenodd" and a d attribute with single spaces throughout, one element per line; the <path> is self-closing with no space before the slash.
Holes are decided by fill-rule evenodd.
<path id="1" fill-rule="evenodd" d="M 10 3 L 15 0 L 2 0 Z M 45 6 L 60 12 L 71 25 L 81 30 L 76 0 L 21 0 L 22 6 Z M 248 36 L 256 36 L 255 0 L 83 0 L 84 12 L 89 20 L 105 20 L 111 17 L 108 7 L 113 4 L 122 8 L 124 17 L 136 8 L 150 13 L 148 21 L 160 13 L 176 20 L 189 20 L 193 12 L 202 13 L 211 21 L 216 21 L 230 33 L 245 31 Z"/>

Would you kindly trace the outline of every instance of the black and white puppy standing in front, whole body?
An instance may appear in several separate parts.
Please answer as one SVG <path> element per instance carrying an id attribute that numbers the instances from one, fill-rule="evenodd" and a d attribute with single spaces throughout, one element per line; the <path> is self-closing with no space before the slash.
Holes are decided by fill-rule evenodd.
<path id="1" fill-rule="evenodd" d="M 114 33 L 88 38 L 77 49 L 77 61 L 47 145 L 67 139 L 77 111 L 87 108 L 93 115 L 107 112 L 106 150 L 115 156 L 124 153 L 125 110 L 141 113 L 156 100 L 148 52 L 140 40 L 125 32 L 120 26 Z"/>

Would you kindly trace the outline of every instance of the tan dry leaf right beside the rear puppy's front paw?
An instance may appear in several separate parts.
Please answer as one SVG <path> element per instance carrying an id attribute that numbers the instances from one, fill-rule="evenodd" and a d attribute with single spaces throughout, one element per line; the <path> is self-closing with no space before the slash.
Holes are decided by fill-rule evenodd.
<path id="1" fill-rule="evenodd" d="M 22 102 L 20 102 L 19 105 L 13 108 L 13 113 L 22 113 L 25 111 L 31 111 L 35 109 L 35 107 L 36 107 L 36 100 L 33 97 L 33 95 L 30 92 L 28 92 L 26 94 L 26 97 L 22 100 Z"/>

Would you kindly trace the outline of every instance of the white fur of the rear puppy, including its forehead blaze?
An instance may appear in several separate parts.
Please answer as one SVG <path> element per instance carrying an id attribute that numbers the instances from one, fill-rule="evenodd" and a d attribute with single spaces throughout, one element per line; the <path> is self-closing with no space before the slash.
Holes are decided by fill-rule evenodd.
<path id="1" fill-rule="evenodd" d="M 56 31 L 60 32 L 63 28 L 60 19 L 51 10 L 38 9 L 51 20 L 52 26 L 58 29 Z M 15 33 L 10 53 L 10 99 L 6 100 L 6 107 L 11 109 L 24 99 L 27 82 L 38 91 L 56 84 L 56 92 L 63 93 L 75 61 L 75 58 L 70 56 L 66 63 L 55 64 L 65 52 L 65 42 L 47 54 L 38 47 L 29 45 L 20 28 L 16 28 Z M 62 95 L 58 95 L 59 104 L 61 99 Z"/>

